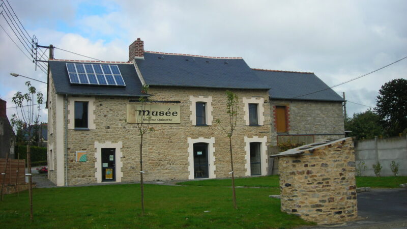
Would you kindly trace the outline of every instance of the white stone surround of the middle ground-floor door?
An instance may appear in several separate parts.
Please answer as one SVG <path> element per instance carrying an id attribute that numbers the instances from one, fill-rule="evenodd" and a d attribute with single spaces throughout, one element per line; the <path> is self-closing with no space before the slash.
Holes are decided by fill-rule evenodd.
<path id="1" fill-rule="evenodd" d="M 209 168 L 208 168 L 208 173 L 209 179 L 216 178 L 215 175 L 215 170 L 216 170 L 216 165 L 215 165 L 215 147 L 213 146 L 215 144 L 215 138 L 203 138 L 203 137 L 198 137 L 198 138 L 190 138 L 188 137 L 188 171 L 189 171 L 189 180 L 194 180 L 194 144 L 195 143 L 207 143 L 208 144 L 208 163 L 209 163 Z"/>

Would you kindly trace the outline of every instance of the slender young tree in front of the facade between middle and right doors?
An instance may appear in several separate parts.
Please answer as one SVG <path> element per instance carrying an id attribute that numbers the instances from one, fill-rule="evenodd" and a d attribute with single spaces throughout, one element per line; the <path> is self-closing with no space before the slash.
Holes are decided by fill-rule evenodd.
<path id="1" fill-rule="evenodd" d="M 236 191 L 235 191 L 235 170 L 233 168 L 233 152 L 232 152 L 232 135 L 236 129 L 236 123 L 238 118 L 238 106 L 239 98 L 238 96 L 230 91 L 226 91 L 226 113 L 229 116 L 229 127 L 228 128 L 221 128 L 227 132 L 227 137 L 229 138 L 229 151 L 230 151 L 230 167 L 231 171 L 230 174 L 232 175 L 232 198 L 233 198 L 233 206 L 235 209 L 238 209 L 236 204 Z M 216 120 L 216 123 L 220 125 L 220 120 Z"/>

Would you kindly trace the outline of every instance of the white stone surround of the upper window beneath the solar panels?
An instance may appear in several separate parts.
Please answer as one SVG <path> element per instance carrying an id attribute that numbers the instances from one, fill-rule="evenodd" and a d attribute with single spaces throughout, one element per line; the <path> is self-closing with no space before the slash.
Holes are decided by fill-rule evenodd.
<path id="1" fill-rule="evenodd" d="M 68 105 L 68 129 L 89 129 L 95 130 L 95 97 L 69 97 L 68 98 L 69 105 Z M 75 102 L 88 102 L 88 128 L 75 128 Z"/>

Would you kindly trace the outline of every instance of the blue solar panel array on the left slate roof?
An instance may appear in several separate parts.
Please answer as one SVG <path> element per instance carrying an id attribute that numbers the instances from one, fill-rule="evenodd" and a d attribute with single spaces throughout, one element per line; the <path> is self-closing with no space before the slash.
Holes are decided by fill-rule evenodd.
<path id="1" fill-rule="evenodd" d="M 66 64 L 69 80 L 75 84 L 125 86 L 117 65 Z"/>

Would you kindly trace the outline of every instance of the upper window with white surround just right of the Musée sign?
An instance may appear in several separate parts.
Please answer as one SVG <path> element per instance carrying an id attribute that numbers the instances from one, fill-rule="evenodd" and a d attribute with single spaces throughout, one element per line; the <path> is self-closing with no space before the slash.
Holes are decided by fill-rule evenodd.
<path id="1" fill-rule="evenodd" d="M 190 120 L 194 126 L 211 126 L 213 121 L 212 116 L 212 96 L 189 96 L 191 102 Z"/>

